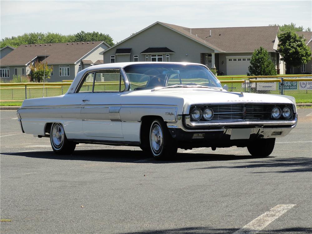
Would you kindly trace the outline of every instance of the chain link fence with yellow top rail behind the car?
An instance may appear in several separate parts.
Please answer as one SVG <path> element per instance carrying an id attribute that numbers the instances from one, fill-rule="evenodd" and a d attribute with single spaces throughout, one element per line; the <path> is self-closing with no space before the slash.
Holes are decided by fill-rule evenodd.
<path id="1" fill-rule="evenodd" d="M 293 96 L 297 103 L 312 103 L 312 75 L 297 76 L 234 76 L 217 77 L 230 92 L 281 94 Z M 30 98 L 63 95 L 72 80 L 59 83 L 5 83 L 0 84 L 1 105 L 17 103 Z M 112 84 L 105 84 L 112 85 Z"/>

